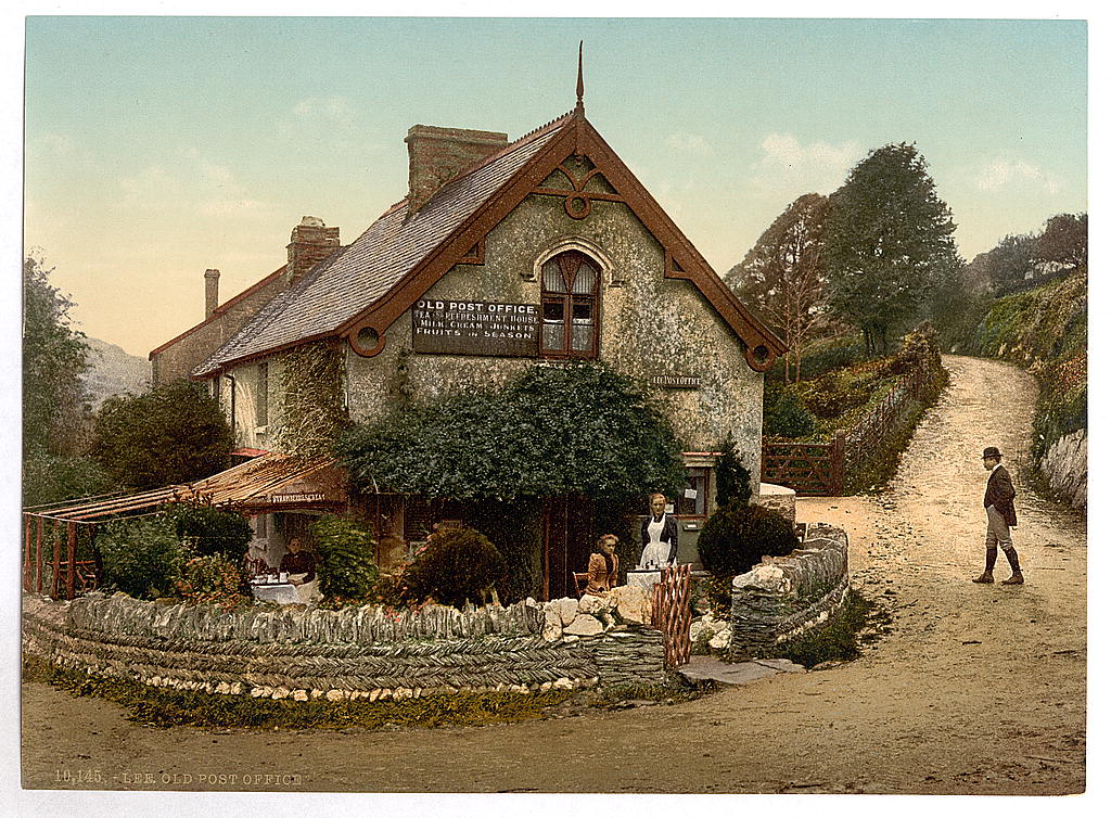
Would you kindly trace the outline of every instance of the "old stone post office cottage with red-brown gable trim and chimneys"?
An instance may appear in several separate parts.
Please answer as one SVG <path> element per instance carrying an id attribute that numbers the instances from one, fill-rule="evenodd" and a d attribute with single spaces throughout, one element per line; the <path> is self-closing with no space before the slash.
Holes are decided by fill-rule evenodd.
<path id="1" fill-rule="evenodd" d="M 408 193 L 350 245 L 307 218 L 288 263 L 223 306 L 206 273 L 210 315 L 151 353 L 156 378 L 191 366 L 220 396 L 238 443 L 274 451 L 289 422 L 284 368 L 306 349 L 338 358 L 339 401 L 356 420 L 504 383 L 538 361 L 603 361 L 651 386 L 683 442 L 689 487 L 674 511 L 680 559 L 692 561 L 727 433 L 759 480 L 763 372 L 783 342 L 591 126 L 581 91 L 572 111 L 512 142 L 423 124 L 404 141 Z M 427 505 L 382 488 L 380 533 L 418 539 Z M 311 512 L 314 492 L 302 493 L 310 499 L 294 505 Z M 546 551 L 568 563 L 574 532 L 564 526 L 561 538 Z M 546 591 L 562 595 L 565 580 L 544 565 Z"/>

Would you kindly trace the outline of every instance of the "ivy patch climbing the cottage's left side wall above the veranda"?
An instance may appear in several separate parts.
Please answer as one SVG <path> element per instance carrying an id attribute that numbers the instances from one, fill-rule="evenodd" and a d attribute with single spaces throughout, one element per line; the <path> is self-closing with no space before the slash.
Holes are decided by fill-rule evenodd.
<path id="1" fill-rule="evenodd" d="M 307 458 L 332 455 L 336 438 L 348 420 L 342 349 L 307 345 L 287 353 L 282 363 L 284 400 L 274 448 Z"/>

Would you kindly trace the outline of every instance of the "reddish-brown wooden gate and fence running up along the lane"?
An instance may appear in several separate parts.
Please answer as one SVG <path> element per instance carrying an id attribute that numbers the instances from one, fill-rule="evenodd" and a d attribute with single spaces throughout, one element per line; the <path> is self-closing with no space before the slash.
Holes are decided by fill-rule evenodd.
<path id="1" fill-rule="evenodd" d="M 942 378 L 940 369 L 907 372 L 864 418 L 851 429 L 839 429 L 829 443 L 764 440 L 760 480 L 787 486 L 802 497 L 841 497 L 901 431 L 911 402 L 930 397 Z"/>

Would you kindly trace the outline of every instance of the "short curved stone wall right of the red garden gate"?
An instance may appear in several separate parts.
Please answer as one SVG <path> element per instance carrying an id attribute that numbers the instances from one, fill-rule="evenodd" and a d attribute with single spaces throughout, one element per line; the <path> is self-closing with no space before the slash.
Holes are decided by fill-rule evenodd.
<path id="1" fill-rule="evenodd" d="M 789 557 L 764 557 L 733 579 L 734 658 L 758 655 L 823 622 L 849 592 L 849 537 L 812 525 L 803 548 Z"/>

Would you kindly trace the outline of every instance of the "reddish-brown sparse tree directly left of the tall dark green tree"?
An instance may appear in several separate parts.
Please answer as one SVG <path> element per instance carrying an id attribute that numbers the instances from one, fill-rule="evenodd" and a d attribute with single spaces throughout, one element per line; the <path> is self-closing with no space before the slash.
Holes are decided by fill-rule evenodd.
<path id="1" fill-rule="evenodd" d="M 802 349 L 820 327 L 825 305 L 823 236 L 829 200 L 819 193 L 800 196 L 771 223 L 727 273 L 739 296 L 760 308 L 787 341 L 784 379 L 799 380 Z"/>

